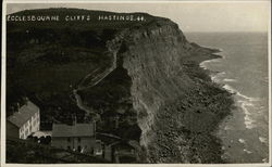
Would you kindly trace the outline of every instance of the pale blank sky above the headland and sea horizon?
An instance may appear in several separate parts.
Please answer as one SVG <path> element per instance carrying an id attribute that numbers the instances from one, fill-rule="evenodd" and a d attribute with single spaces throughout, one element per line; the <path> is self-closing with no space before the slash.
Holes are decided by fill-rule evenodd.
<path id="1" fill-rule="evenodd" d="M 28 9 L 79 8 L 112 12 L 147 12 L 169 17 L 185 31 L 268 31 L 269 0 L 247 2 L 96 2 L 96 3 L 10 3 L 7 14 Z"/>

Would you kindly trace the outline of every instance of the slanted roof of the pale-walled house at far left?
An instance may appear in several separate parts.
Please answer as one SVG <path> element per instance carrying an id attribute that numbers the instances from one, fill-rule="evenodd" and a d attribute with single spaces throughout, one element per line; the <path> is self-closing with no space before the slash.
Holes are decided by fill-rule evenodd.
<path id="1" fill-rule="evenodd" d="M 33 102 L 27 101 L 25 105 L 18 108 L 18 112 L 8 117 L 8 120 L 11 121 L 16 127 L 22 127 L 27 120 L 32 118 L 36 113 L 39 113 L 39 107 Z"/>

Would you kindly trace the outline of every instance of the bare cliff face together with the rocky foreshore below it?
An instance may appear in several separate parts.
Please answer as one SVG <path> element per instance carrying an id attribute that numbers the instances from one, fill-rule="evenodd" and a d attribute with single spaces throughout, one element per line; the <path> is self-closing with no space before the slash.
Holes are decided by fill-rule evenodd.
<path id="1" fill-rule="evenodd" d="M 201 59 L 212 59 L 215 50 L 189 43 L 171 21 L 126 31 L 127 36 L 122 34 L 112 41 L 123 47 L 118 53 L 122 60 L 119 65 L 132 79 L 129 89 L 145 160 L 219 163 L 221 149 L 211 131 L 232 102 L 197 65 Z M 228 104 L 212 108 L 217 103 L 212 97 L 222 94 L 228 97 Z"/>

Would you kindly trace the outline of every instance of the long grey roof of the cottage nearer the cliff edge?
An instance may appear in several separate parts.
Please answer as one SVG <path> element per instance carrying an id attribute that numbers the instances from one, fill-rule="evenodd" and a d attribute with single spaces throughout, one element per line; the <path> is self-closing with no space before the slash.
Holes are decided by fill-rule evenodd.
<path id="1" fill-rule="evenodd" d="M 94 137 L 94 124 L 53 124 L 52 137 Z"/>

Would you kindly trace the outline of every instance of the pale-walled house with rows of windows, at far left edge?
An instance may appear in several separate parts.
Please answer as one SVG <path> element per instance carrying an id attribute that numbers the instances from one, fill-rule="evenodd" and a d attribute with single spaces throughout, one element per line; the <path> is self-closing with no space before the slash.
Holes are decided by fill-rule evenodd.
<path id="1" fill-rule="evenodd" d="M 22 106 L 17 106 L 11 116 L 7 118 L 7 137 L 26 139 L 33 132 L 39 131 L 39 107 L 26 99 Z"/>

